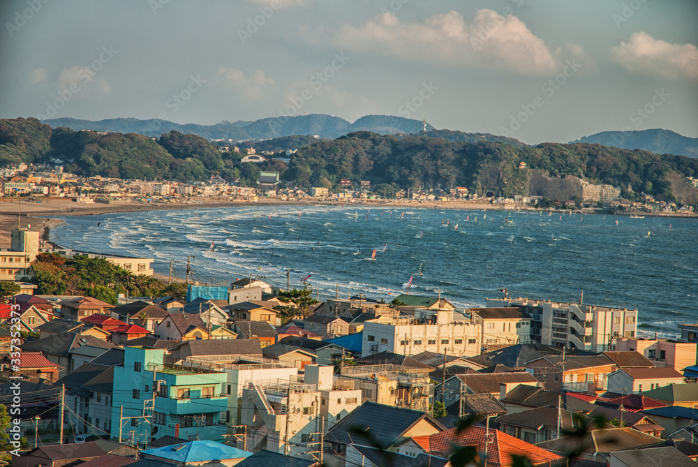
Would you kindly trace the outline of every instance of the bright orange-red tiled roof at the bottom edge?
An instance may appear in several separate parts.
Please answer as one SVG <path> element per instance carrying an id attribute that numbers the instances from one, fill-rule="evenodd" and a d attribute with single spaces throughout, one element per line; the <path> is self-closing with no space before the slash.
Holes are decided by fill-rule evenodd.
<path id="1" fill-rule="evenodd" d="M 471 426 L 460 433 L 457 428 L 452 428 L 429 436 L 429 445 L 433 454 L 450 454 L 454 447 L 477 446 L 477 450 L 484 452 L 485 435 L 484 427 Z M 526 456 L 533 464 L 549 462 L 561 459 L 557 454 L 526 443 L 526 441 L 514 438 L 496 429 L 489 430 L 491 440 L 487 451 L 487 462 L 493 466 L 510 466 L 514 460 L 512 456 Z M 420 444 L 421 445 L 421 444 Z"/>

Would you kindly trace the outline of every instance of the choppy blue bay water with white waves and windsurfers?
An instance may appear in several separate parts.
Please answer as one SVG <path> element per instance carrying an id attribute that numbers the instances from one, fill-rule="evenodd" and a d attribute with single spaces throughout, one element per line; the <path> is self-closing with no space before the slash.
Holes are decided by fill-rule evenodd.
<path id="1" fill-rule="evenodd" d="M 502 296 L 499 288 L 560 302 L 584 291 L 586 304 L 638 309 L 640 335 L 676 336 L 677 324 L 698 322 L 698 221 L 691 219 L 242 205 L 64 220 L 51 230 L 62 246 L 154 258 L 165 275 L 170 260 L 180 261 L 179 277 L 194 255 L 190 280 L 202 284 L 252 274 L 285 288 L 290 269 L 291 287 L 312 274 L 320 299 L 364 293 L 389 302 L 412 278 L 410 294 L 440 290 L 459 307 L 482 306 Z"/>

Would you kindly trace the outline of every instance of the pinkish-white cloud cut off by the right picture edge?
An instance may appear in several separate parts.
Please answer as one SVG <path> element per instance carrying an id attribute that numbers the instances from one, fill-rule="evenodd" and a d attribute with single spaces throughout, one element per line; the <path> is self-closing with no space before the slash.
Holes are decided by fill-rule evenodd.
<path id="1" fill-rule="evenodd" d="M 611 47 L 611 59 L 639 75 L 698 78 L 698 47 L 671 44 L 644 32 L 633 33 L 628 43 L 621 41 L 620 45 Z"/>

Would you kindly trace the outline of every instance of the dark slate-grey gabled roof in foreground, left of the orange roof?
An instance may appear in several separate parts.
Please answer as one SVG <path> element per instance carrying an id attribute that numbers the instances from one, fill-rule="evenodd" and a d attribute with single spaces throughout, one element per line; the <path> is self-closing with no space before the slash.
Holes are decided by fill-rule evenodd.
<path id="1" fill-rule="evenodd" d="M 422 419 L 429 420 L 439 430 L 445 429 L 428 413 L 367 401 L 334 425 L 325 436 L 325 443 L 376 443 L 381 447 L 389 447 Z"/>

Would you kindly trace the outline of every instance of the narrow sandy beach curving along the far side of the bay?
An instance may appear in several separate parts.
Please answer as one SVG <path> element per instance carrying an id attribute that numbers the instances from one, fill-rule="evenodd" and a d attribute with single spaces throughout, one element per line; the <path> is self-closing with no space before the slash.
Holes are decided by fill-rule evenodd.
<path id="1" fill-rule="evenodd" d="M 484 200 L 462 200 L 462 201 L 414 201 L 414 200 L 351 200 L 350 202 L 342 202 L 341 200 L 291 200 L 285 201 L 280 199 L 265 199 L 258 201 L 250 200 L 230 200 L 225 198 L 189 198 L 187 202 L 166 202 L 166 203 L 148 203 L 135 200 L 119 200 L 111 203 L 94 203 L 80 204 L 72 201 L 70 198 L 65 199 L 47 199 L 40 202 L 23 201 L 20 199 L 2 199 L 0 198 L 0 248 L 9 248 L 10 246 L 10 230 L 17 227 L 17 214 L 20 214 L 19 225 L 26 228 L 31 225 L 29 230 L 40 232 L 40 239 L 45 244 L 51 244 L 50 229 L 61 225 L 65 221 L 57 217 L 68 216 L 98 216 L 101 214 L 121 214 L 130 212 L 148 212 L 148 211 L 178 211 L 184 209 L 209 209 L 216 207 L 239 207 L 239 206 L 341 206 L 350 207 L 366 207 L 366 208 L 393 208 L 393 209 L 472 209 L 487 211 L 551 211 L 556 214 L 564 214 L 570 212 L 570 209 L 535 209 L 528 206 L 512 206 L 512 205 L 496 205 Z M 641 215 L 647 217 L 669 217 L 669 218 L 698 218 L 698 214 L 679 214 L 673 212 L 595 212 L 594 209 L 576 209 L 577 214 L 604 214 L 615 216 L 630 216 Z"/>

